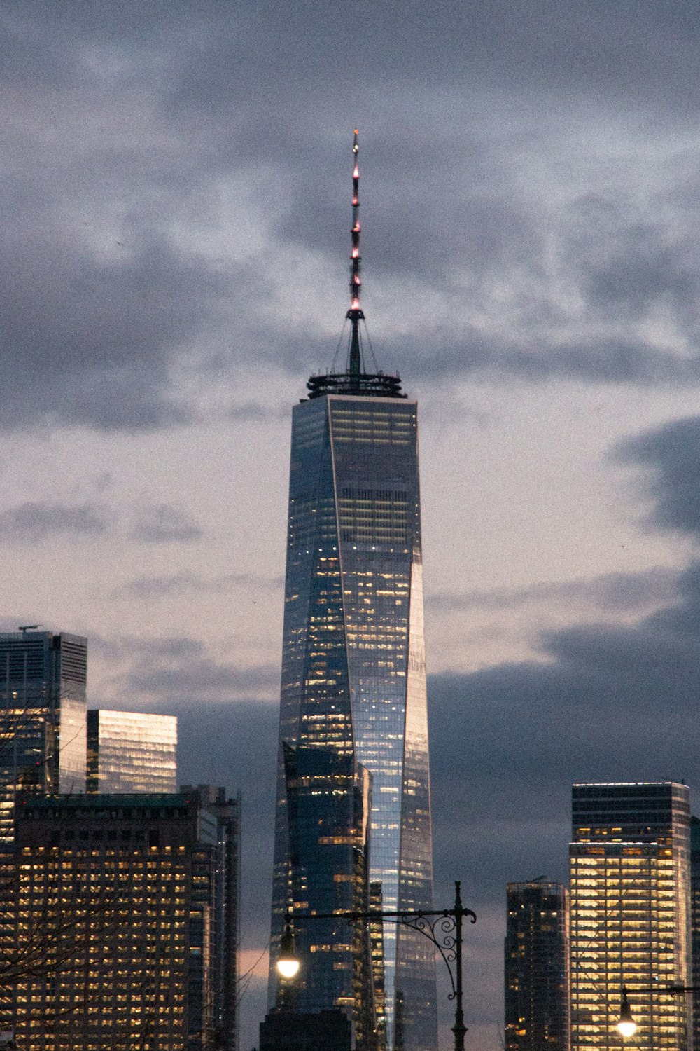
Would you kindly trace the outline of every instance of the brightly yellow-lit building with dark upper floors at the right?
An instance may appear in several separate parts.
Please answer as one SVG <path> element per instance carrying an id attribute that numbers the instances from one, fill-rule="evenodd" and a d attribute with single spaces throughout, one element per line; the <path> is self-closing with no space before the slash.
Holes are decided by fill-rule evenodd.
<path id="1" fill-rule="evenodd" d="M 690 1003 L 662 988 L 691 984 L 690 819 L 683 784 L 574 785 L 572 1051 L 619 1051 L 622 986 L 639 1047 L 692 1047 Z"/>

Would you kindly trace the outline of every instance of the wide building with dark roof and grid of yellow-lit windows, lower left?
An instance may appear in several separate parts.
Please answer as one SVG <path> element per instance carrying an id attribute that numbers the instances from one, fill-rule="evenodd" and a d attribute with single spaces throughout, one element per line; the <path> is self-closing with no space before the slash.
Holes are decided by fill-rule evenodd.
<path id="1" fill-rule="evenodd" d="M 235 998 L 221 1013 L 215 983 L 217 916 L 237 905 L 217 898 L 220 817 L 198 791 L 18 798 L 0 928 L 18 1047 L 234 1051 Z"/>

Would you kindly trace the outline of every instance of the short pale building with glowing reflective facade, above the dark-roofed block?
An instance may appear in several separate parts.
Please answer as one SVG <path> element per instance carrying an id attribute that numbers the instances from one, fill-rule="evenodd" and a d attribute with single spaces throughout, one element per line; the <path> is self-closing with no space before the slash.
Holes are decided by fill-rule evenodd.
<path id="1" fill-rule="evenodd" d="M 176 788 L 176 716 L 89 709 L 88 792 L 169 792 Z"/>

